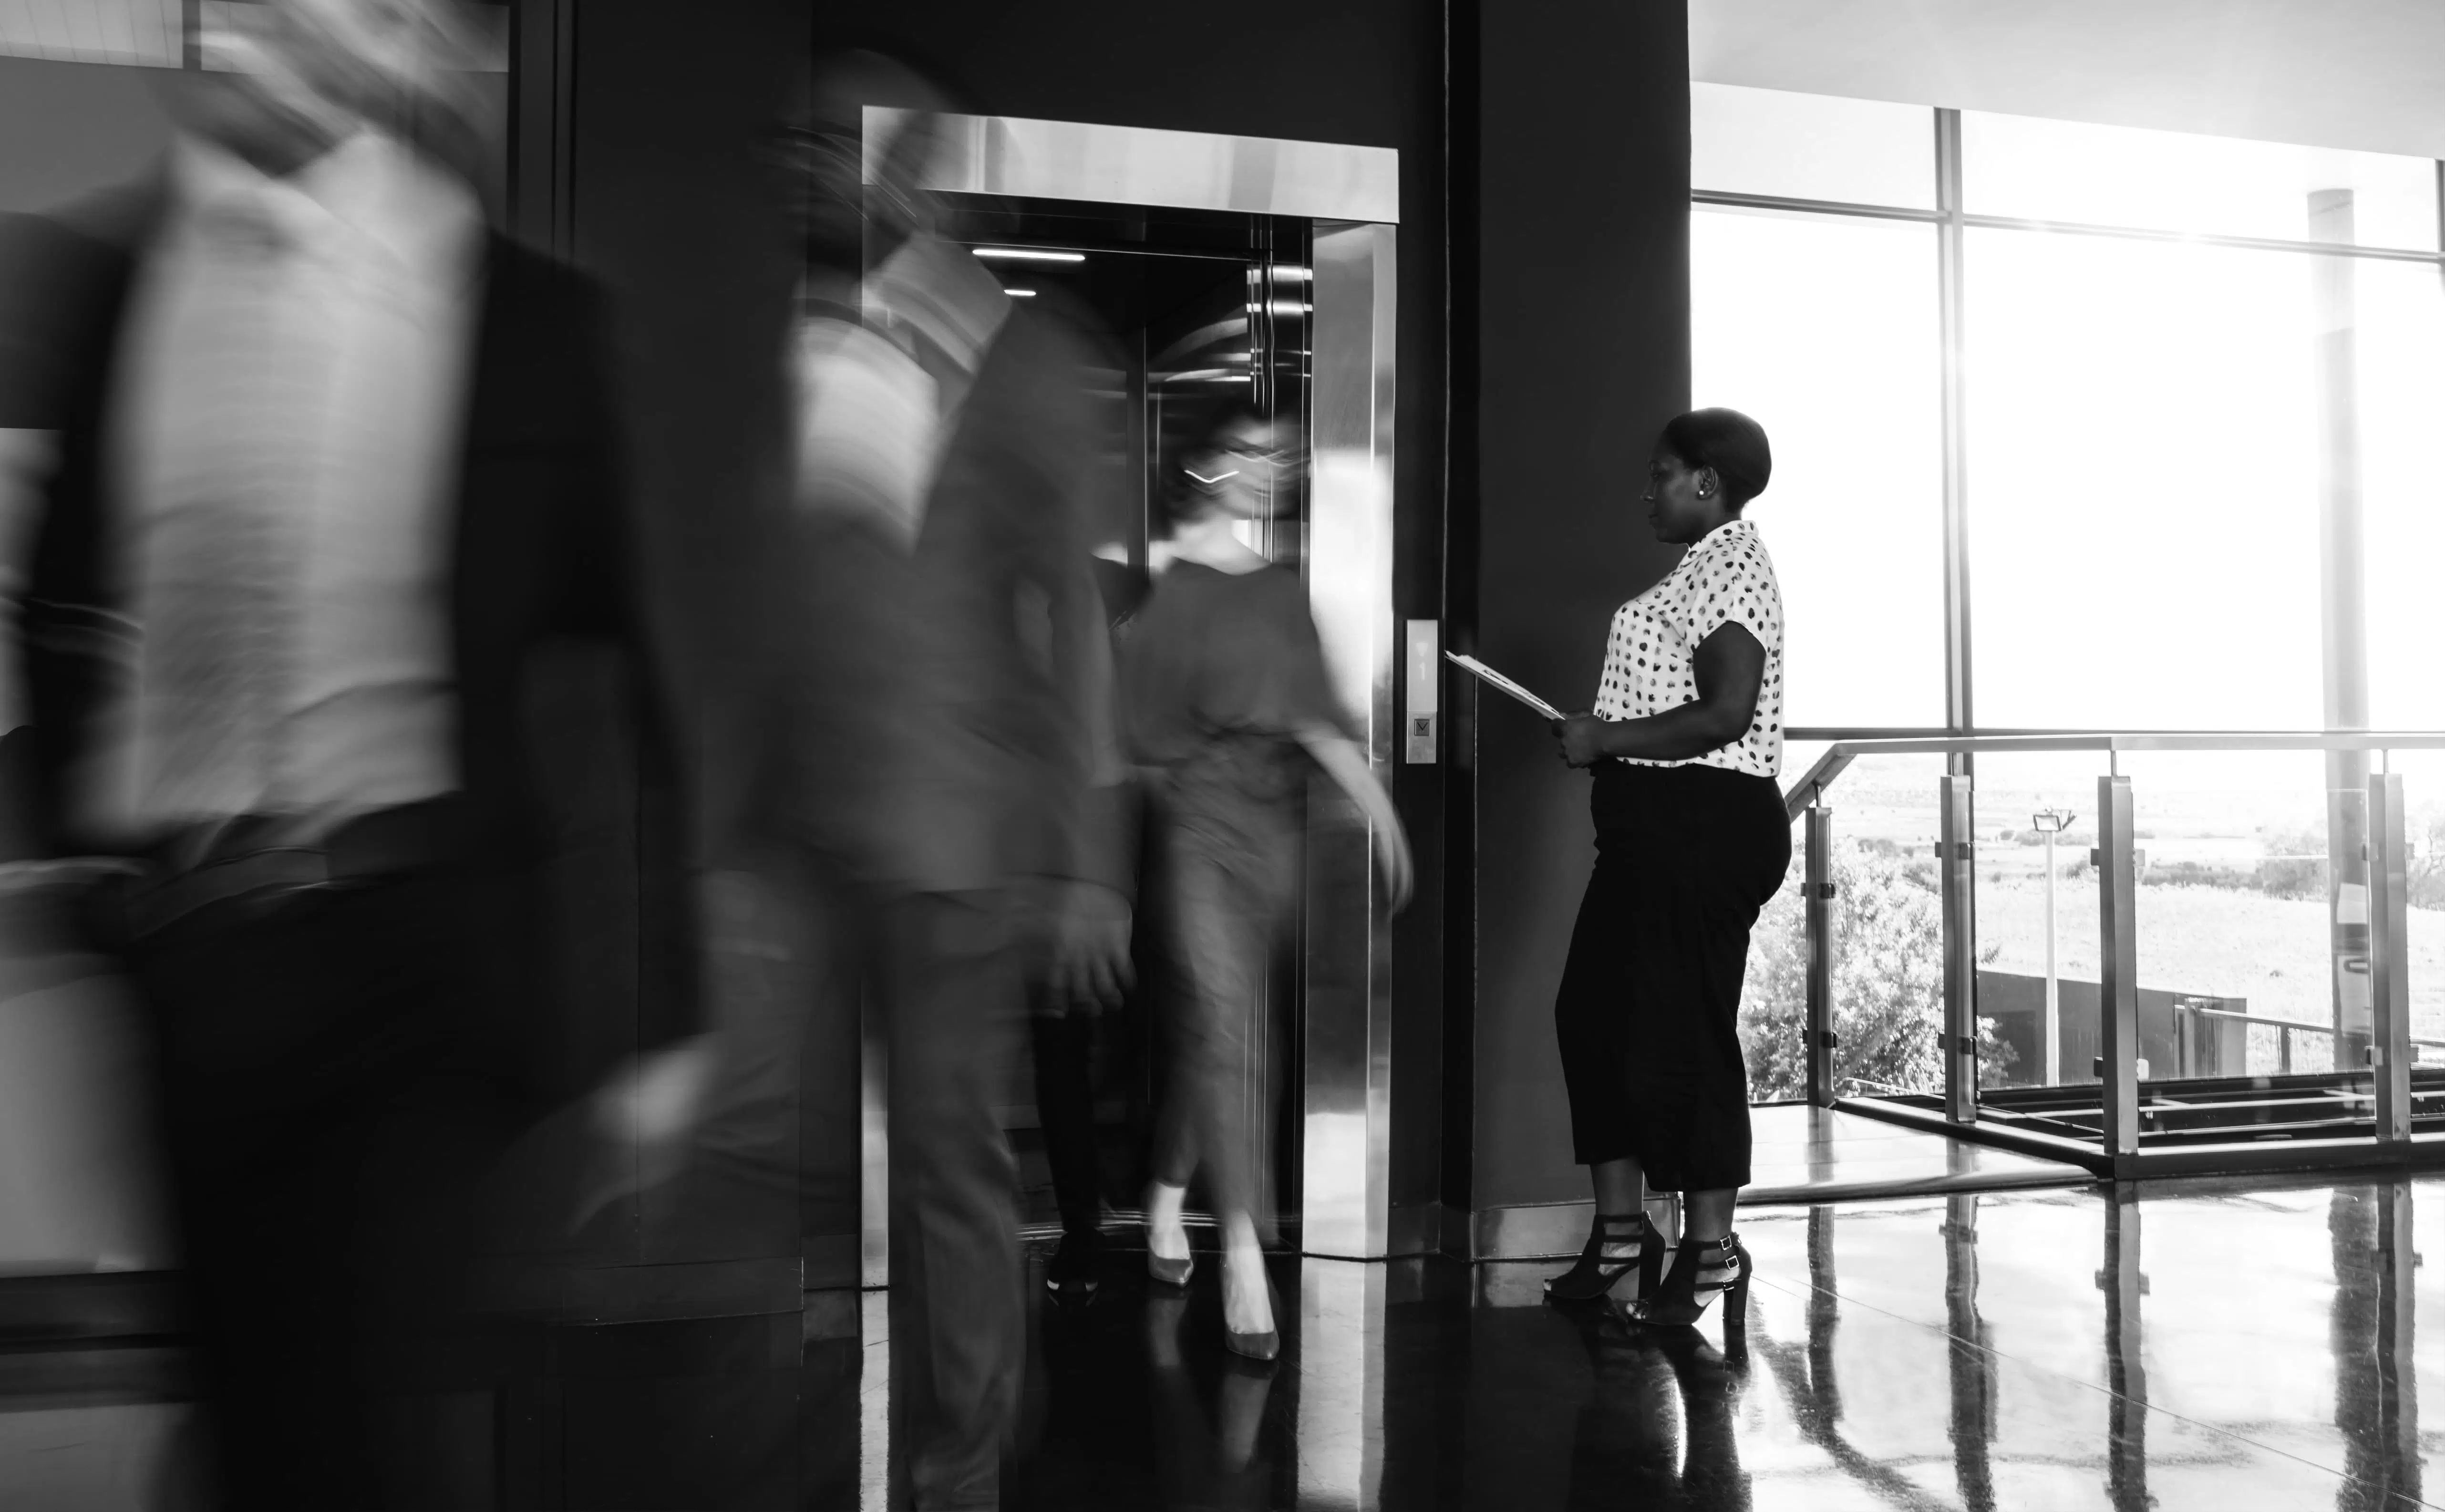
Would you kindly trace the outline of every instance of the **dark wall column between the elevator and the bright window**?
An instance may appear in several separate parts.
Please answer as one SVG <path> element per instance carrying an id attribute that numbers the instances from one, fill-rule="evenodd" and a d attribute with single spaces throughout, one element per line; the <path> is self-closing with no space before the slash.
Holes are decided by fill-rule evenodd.
<path id="1" fill-rule="evenodd" d="M 1469 24 L 1477 313 L 1455 387 L 1477 416 L 1474 634 L 1489 663 L 1587 707 L 1614 609 L 1675 560 L 1636 502 L 1655 431 L 1689 406 L 1687 17 L 1504 0 Z M 1509 702 L 1477 702 L 1474 739 L 1469 1206 L 1584 1201 L 1553 993 L 1594 854 L 1587 776 Z"/>

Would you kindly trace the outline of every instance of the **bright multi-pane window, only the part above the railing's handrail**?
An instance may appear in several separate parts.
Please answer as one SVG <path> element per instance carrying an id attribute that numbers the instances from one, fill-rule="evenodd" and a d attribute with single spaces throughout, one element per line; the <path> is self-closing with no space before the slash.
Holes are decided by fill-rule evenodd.
<path id="1" fill-rule="evenodd" d="M 1958 719 L 1958 614 L 1966 732 L 2318 729 L 2320 509 L 2357 499 L 2337 612 L 2369 722 L 2445 729 L 2438 183 L 2413 157 L 1692 86 L 1694 389 L 1775 438 L 1792 724 Z"/>

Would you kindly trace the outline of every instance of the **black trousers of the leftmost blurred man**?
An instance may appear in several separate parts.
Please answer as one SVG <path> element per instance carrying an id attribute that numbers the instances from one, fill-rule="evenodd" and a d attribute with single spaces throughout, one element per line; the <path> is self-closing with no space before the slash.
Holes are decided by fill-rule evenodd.
<path id="1" fill-rule="evenodd" d="M 472 1187 L 511 1113 L 467 1064 L 467 910 L 450 878 L 386 883 L 130 952 L 230 1507 L 374 1507 L 413 1473 L 396 1399 L 465 1336 Z"/>

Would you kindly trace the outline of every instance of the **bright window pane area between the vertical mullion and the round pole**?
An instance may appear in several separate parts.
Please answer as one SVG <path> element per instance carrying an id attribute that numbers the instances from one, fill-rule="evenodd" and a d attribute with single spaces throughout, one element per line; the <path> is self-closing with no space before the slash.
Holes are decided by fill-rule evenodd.
<path id="1" fill-rule="evenodd" d="M 2318 729 L 2306 257 L 1966 235 L 1983 727 Z"/>

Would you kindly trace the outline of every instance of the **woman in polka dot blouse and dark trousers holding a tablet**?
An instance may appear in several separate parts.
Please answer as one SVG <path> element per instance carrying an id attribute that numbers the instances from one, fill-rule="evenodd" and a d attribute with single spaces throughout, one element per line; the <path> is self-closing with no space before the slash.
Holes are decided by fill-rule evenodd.
<path id="1" fill-rule="evenodd" d="M 1726 1297 L 1741 1331 L 1748 1184 L 1741 979 L 1748 930 L 1790 866 L 1782 812 L 1782 592 L 1758 526 L 1765 431 L 1729 409 L 1670 421 L 1648 462 L 1648 524 L 1689 550 L 1614 614 L 1592 714 L 1555 724 L 1594 768 L 1597 869 L 1555 1001 L 1572 1145 L 1597 1189 L 1579 1262 L 1545 1287 L 1636 1321 L 1694 1324 Z M 1665 1243 L 1645 1189 L 1682 1194 Z"/>

